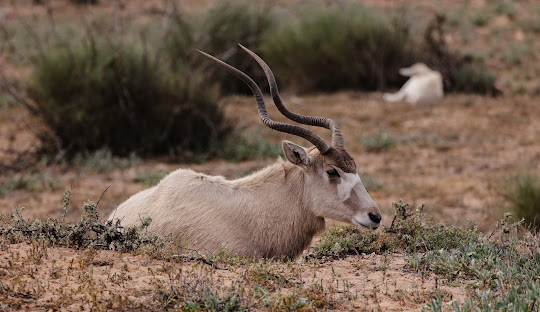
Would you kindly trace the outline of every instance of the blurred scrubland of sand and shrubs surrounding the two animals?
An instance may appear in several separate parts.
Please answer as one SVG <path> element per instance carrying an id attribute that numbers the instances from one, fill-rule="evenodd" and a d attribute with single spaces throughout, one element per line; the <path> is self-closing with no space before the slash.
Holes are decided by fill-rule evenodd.
<path id="1" fill-rule="evenodd" d="M 538 310 L 539 38 L 525 0 L 0 0 L 0 310 Z M 339 124 L 386 228 L 329 220 L 285 264 L 112 225 L 122 248 L 100 250 L 100 218 L 168 172 L 237 178 L 307 146 L 195 52 L 267 91 L 237 43 L 292 111 Z M 418 61 L 444 100 L 384 102 Z"/>

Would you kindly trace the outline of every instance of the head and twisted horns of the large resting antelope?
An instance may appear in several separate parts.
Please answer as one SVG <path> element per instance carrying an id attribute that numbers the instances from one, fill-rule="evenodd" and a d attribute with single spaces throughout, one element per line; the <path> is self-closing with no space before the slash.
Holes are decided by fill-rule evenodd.
<path id="1" fill-rule="evenodd" d="M 262 122 L 271 129 L 302 137 L 314 147 L 304 148 L 289 141 L 283 141 L 285 158 L 304 173 L 306 207 L 317 217 L 328 217 L 337 221 L 352 223 L 357 228 L 379 227 L 381 213 L 371 199 L 356 172 L 354 159 L 345 150 L 343 135 L 337 124 L 324 117 L 304 116 L 289 111 L 279 96 L 274 74 L 269 66 L 254 52 L 240 45 L 253 57 L 265 72 L 270 84 L 270 94 L 278 110 L 287 118 L 300 124 L 317 126 L 332 132 L 332 144 L 315 132 L 302 126 L 277 122 L 270 119 L 264 98 L 257 84 L 240 70 L 199 51 L 244 81 L 257 101 L 257 109 Z"/>

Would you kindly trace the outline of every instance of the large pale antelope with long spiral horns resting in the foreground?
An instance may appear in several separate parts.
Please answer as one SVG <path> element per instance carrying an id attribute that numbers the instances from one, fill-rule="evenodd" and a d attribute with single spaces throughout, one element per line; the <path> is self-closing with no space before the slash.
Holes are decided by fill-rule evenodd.
<path id="1" fill-rule="evenodd" d="M 325 229 L 325 219 L 376 229 L 381 213 L 345 150 L 337 124 L 323 117 L 289 111 L 281 101 L 274 74 L 254 52 L 240 45 L 263 68 L 279 111 L 300 124 L 332 132 L 332 145 L 312 130 L 270 119 L 257 84 L 245 73 L 205 53 L 246 83 L 259 116 L 271 129 L 311 142 L 304 148 L 282 142 L 285 160 L 236 180 L 178 169 L 156 186 L 136 193 L 111 213 L 109 220 L 134 225 L 150 217 L 148 230 L 181 239 L 189 250 L 205 254 L 228 252 L 246 257 L 294 259 L 313 236 Z"/>

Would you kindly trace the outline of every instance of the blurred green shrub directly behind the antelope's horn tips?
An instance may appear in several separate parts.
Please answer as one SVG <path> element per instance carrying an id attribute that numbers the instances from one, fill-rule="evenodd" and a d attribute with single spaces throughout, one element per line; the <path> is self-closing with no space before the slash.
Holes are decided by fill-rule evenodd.
<path id="1" fill-rule="evenodd" d="M 176 65 L 205 68 L 208 83 L 219 84 L 223 93 L 251 94 L 245 83 L 194 51 L 215 55 L 262 84 L 266 81 L 263 71 L 237 44 L 258 50 L 272 24 L 268 12 L 246 1 L 223 1 L 198 16 L 176 13 L 167 53 Z"/>

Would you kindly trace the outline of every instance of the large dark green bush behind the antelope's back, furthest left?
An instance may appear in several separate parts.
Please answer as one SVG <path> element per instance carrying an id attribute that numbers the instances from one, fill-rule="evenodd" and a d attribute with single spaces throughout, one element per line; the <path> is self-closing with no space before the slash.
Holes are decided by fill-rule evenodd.
<path id="1" fill-rule="evenodd" d="M 109 38 L 110 39 L 110 38 Z M 28 94 L 68 152 L 204 151 L 224 133 L 215 93 L 134 45 L 82 41 L 35 58 Z"/>

